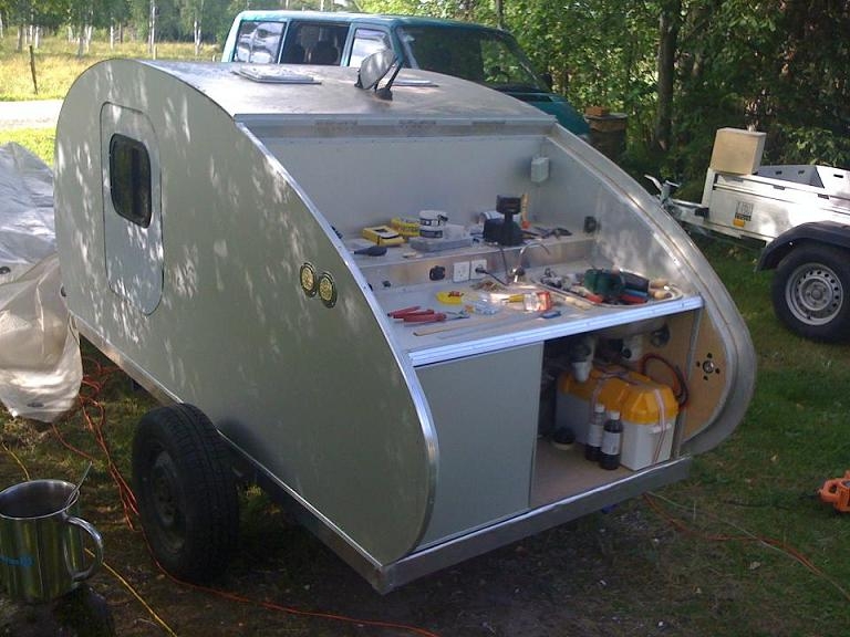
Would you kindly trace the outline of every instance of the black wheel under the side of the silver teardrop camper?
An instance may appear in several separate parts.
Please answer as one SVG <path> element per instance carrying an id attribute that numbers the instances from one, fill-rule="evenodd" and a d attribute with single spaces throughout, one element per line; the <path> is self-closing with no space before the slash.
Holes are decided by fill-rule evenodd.
<path id="1" fill-rule="evenodd" d="M 151 551 L 168 573 L 204 583 L 225 568 L 239 500 L 227 447 L 200 409 L 175 405 L 142 417 L 133 483 Z"/>

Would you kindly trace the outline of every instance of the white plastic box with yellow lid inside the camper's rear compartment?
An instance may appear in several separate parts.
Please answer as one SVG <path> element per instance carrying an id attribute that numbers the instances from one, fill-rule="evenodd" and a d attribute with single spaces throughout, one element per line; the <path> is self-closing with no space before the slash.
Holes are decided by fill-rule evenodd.
<path id="1" fill-rule="evenodd" d="M 670 459 L 678 404 L 668 386 L 623 367 L 594 367 L 584 383 L 563 374 L 558 382 L 557 427 L 572 429 L 583 445 L 597 403 L 620 411 L 624 467 L 639 470 Z"/>

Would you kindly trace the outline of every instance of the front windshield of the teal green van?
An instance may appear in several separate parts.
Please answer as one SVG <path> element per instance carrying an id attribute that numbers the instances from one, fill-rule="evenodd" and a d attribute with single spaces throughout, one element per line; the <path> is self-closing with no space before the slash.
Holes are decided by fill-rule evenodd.
<path id="1" fill-rule="evenodd" d="M 485 84 L 499 91 L 547 92 L 507 33 L 463 27 L 400 27 L 398 39 L 413 67 Z"/>

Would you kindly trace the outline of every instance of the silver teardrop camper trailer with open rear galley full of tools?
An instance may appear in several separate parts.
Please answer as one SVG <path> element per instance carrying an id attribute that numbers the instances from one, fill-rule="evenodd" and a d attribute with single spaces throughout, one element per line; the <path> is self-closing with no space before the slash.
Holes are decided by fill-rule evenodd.
<path id="1" fill-rule="evenodd" d="M 253 480 L 387 592 L 684 479 L 750 399 L 734 303 L 614 164 L 475 84 L 357 75 L 113 60 L 65 98 L 63 293 L 164 404 L 133 472 L 178 576 L 224 567 Z M 581 452 L 598 400 L 615 470 Z"/>

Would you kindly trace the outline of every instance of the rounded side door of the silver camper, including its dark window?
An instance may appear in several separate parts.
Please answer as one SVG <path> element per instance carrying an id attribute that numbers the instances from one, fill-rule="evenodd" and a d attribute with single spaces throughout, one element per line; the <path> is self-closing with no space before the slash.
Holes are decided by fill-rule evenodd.
<path id="1" fill-rule="evenodd" d="M 110 289 L 152 314 L 163 295 L 162 186 L 156 135 L 143 113 L 103 105 L 101 170 Z"/>

